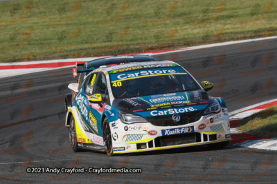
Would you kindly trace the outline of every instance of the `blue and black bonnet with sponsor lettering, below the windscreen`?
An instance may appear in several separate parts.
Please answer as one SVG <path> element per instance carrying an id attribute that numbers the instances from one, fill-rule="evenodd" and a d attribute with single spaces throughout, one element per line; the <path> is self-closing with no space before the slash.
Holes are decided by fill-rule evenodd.
<path id="1" fill-rule="evenodd" d="M 212 101 L 213 99 L 204 90 L 197 90 L 115 99 L 112 106 L 123 112 L 139 114 L 141 116 L 153 116 L 152 111 L 161 112 L 159 114 L 155 113 L 157 116 L 160 116 L 166 110 L 177 114 L 204 110 Z"/>

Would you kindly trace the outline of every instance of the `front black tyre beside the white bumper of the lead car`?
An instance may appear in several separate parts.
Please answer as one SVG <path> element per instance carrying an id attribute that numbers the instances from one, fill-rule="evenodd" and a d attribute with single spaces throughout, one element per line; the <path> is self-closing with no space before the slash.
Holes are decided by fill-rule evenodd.
<path id="1" fill-rule="evenodd" d="M 103 122 L 103 141 L 105 145 L 106 153 L 111 156 L 114 154 L 112 140 L 111 140 L 111 129 L 109 128 L 109 121 L 107 119 Z"/>

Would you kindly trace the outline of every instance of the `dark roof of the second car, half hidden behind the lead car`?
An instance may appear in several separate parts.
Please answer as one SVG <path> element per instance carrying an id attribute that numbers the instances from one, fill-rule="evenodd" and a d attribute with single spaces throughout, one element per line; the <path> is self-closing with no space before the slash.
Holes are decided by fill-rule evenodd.
<path id="1" fill-rule="evenodd" d="M 102 65 L 119 65 L 120 63 L 132 63 L 132 62 L 144 62 L 144 61 L 156 61 L 154 57 L 145 55 L 128 55 L 128 56 L 118 56 L 118 57 L 105 57 L 96 59 L 93 61 L 88 61 L 85 68 L 99 68 Z"/>

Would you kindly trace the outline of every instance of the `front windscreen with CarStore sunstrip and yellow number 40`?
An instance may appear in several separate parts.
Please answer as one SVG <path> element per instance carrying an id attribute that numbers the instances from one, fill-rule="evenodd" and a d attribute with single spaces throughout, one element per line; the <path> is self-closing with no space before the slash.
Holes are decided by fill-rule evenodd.
<path id="1" fill-rule="evenodd" d="M 131 69 L 123 69 L 128 71 Z M 111 71 L 111 89 L 115 99 L 201 90 L 193 78 L 182 68 L 170 65 L 166 68 Z"/>

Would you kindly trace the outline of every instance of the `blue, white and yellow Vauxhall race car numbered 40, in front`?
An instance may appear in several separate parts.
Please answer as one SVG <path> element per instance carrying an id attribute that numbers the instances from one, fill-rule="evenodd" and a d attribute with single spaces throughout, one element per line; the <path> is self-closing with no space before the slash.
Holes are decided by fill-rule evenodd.
<path id="1" fill-rule="evenodd" d="M 72 149 L 112 155 L 228 145 L 229 112 L 222 98 L 208 96 L 211 88 L 213 83 L 197 83 L 172 61 L 87 71 L 82 86 L 69 84 L 74 97 L 66 96 Z"/>

